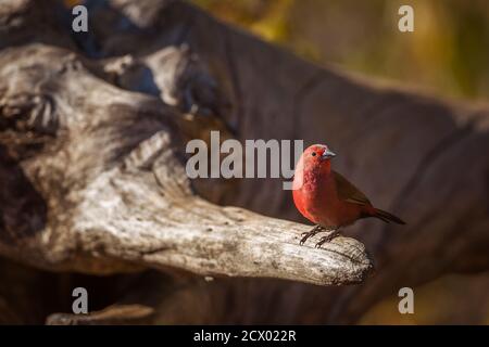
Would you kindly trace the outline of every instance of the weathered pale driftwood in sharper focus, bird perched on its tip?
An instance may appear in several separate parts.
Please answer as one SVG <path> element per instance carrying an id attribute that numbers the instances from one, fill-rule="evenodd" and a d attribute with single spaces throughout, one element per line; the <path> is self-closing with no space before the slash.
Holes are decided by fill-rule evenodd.
<path id="1" fill-rule="evenodd" d="M 302 247 L 299 235 L 311 227 L 197 197 L 171 137 L 171 125 L 178 127 L 172 118 L 185 114 L 155 98 L 112 87 L 73 53 L 46 46 L 4 51 L 1 66 L 4 155 L 21 159 L 33 194 L 48 202 L 30 219 L 21 217 L 25 205 L 3 217 L 4 255 L 58 270 L 174 267 L 322 285 L 360 282 L 372 268 L 358 241 Z M 42 147 L 24 159 L 21 137 Z M 26 184 L 15 181 L 16 168 L 2 179 Z M 12 192 L 3 190 L 11 203 Z"/>

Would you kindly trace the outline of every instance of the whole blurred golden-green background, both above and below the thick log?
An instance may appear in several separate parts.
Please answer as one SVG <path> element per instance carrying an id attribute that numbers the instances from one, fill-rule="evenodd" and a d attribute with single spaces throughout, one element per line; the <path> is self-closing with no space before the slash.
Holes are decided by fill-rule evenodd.
<path id="1" fill-rule="evenodd" d="M 443 98 L 487 102 L 487 0 L 193 0 L 226 23 L 322 66 Z M 414 8 L 414 33 L 400 33 L 398 9 Z M 489 274 L 447 275 L 414 290 L 415 314 L 386 298 L 365 324 L 489 324 Z"/>

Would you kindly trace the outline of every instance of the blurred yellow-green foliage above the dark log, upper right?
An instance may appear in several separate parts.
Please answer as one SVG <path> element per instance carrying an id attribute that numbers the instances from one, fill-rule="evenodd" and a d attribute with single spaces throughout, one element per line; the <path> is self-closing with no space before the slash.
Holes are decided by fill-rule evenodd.
<path id="1" fill-rule="evenodd" d="M 439 95 L 489 97 L 487 0 L 193 2 L 319 65 L 339 65 Z M 414 33 L 398 30 L 401 4 L 414 9 Z"/>

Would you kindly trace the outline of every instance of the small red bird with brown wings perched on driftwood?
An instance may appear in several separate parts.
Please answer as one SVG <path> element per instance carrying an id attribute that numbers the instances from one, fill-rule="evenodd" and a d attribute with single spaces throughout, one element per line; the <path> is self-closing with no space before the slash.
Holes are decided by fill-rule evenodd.
<path id="1" fill-rule="evenodd" d="M 303 233 L 302 245 L 322 231 L 330 231 L 316 244 L 321 247 L 339 234 L 339 229 L 358 219 L 376 217 L 385 222 L 405 224 L 400 218 L 372 206 L 356 187 L 331 169 L 336 156 L 326 145 L 313 144 L 302 153 L 296 166 L 292 194 L 299 211 L 316 226 Z"/>

